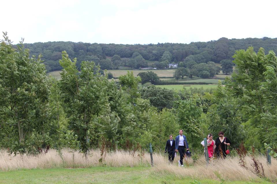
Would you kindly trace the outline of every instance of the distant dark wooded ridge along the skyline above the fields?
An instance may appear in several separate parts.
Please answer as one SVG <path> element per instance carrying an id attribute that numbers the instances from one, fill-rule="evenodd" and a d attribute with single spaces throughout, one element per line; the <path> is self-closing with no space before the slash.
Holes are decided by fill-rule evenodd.
<path id="1" fill-rule="evenodd" d="M 220 38 L 217 41 L 182 43 L 158 43 L 147 45 L 47 42 L 24 44 L 30 49 L 31 55 L 42 54 L 42 60 L 48 72 L 61 70 L 59 64 L 61 52 L 66 51 L 71 59 L 77 58 L 77 67 L 81 61 L 100 63 L 101 69 L 118 69 L 120 66 L 138 69 L 139 67 L 165 68 L 169 63 L 189 68 L 195 63 L 233 60 L 232 56 L 238 49 L 252 46 L 257 52 L 260 47 L 265 53 L 277 51 L 277 39 L 263 37 L 247 39 Z M 152 61 L 152 62 L 149 62 Z"/>

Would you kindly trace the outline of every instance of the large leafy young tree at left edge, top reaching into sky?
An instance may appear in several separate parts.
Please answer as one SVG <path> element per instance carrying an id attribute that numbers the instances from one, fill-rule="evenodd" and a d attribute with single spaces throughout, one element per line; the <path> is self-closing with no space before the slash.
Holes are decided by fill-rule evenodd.
<path id="1" fill-rule="evenodd" d="M 6 128 L 17 131 L 17 140 L 10 142 L 10 152 L 15 154 L 26 151 L 26 137 L 32 135 L 35 126 L 48 123 L 44 119 L 47 109 L 42 107 L 48 104 L 50 83 L 40 57 L 30 57 L 23 40 L 18 50 L 14 49 L 4 33 L 0 43 L 0 115 Z"/>

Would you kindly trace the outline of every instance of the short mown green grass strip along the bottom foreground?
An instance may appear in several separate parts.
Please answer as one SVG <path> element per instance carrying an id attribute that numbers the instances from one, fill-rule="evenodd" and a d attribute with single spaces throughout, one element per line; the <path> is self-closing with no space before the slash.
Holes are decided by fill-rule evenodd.
<path id="1" fill-rule="evenodd" d="M 182 168 L 179 168 L 182 169 Z M 213 174 L 213 173 L 212 173 Z M 167 183 L 183 184 L 194 179 L 180 177 L 170 173 L 155 173 L 150 167 L 91 167 L 91 168 L 55 168 L 55 169 L 22 169 L 8 172 L 0 171 L 0 183 Z M 198 180 L 202 184 L 220 184 L 219 180 Z M 255 183 L 250 181 L 224 181 L 226 184 Z M 261 184 L 269 182 L 259 181 Z"/>

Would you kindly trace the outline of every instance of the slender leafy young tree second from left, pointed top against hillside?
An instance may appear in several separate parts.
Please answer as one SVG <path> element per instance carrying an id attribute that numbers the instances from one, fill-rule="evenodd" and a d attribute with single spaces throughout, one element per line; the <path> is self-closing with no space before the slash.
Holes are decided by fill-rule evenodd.
<path id="1" fill-rule="evenodd" d="M 63 67 L 59 86 L 69 129 L 78 135 L 81 151 L 87 153 L 91 140 L 96 136 L 94 122 L 108 103 L 108 79 L 100 75 L 100 68 L 94 62 L 82 62 L 79 73 L 76 58 L 72 62 L 66 51 L 63 51 L 59 62 Z"/>

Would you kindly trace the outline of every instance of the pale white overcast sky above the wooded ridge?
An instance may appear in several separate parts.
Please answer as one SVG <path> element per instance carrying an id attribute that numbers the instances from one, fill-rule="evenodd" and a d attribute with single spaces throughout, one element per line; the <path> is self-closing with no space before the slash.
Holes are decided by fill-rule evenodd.
<path id="1" fill-rule="evenodd" d="M 13 43 L 190 43 L 277 37 L 277 1 L 0 1 L 0 31 Z"/>

